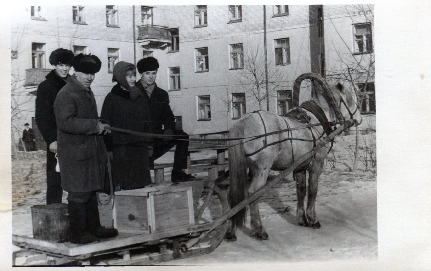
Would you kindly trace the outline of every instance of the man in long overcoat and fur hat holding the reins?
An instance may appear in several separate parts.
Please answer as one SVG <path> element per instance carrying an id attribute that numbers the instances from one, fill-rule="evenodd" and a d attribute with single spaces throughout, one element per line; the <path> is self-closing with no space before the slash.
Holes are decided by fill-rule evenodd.
<path id="1" fill-rule="evenodd" d="M 106 149 L 102 133 L 106 124 L 99 120 L 90 85 L 101 62 L 97 56 L 75 56 L 75 74 L 54 101 L 57 124 L 57 155 L 61 186 L 69 192 L 70 241 L 91 243 L 114 237 L 116 229 L 100 225 L 96 192 L 103 189 Z"/>

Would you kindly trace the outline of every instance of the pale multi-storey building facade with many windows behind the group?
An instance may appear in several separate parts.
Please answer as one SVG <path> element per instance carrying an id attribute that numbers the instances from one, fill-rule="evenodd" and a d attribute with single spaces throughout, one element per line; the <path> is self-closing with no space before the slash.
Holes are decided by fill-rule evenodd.
<path id="1" fill-rule="evenodd" d="M 91 86 L 100 110 L 114 85 L 113 65 L 154 56 L 160 64 L 156 83 L 169 92 L 177 127 L 189 134 L 225 131 L 247 112 L 287 112 L 298 75 L 346 81 L 349 76 L 340 74 L 351 62 L 371 59 L 372 6 L 360 7 L 32 6 L 12 23 L 12 71 L 24 82 L 16 92 L 34 93 L 52 69 L 53 50 L 92 53 L 102 60 Z M 333 61 L 339 55 L 350 62 Z M 360 79 L 349 82 L 367 97 L 362 109 L 372 115 L 374 75 L 364 81 L 364 72 L 356 72 Z M 304 84 L 300 101 L 310 95 Z M 17 121 L 34 116 L 34 101 L 27 107 Z"/>

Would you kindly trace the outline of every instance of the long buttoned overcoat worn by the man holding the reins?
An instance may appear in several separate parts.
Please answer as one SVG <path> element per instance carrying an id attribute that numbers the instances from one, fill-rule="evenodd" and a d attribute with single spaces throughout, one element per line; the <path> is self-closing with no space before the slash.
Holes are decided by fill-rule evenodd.
<path id="1" fill-rule="evenodd" d="M 106 149 L 98 133 L 96 100 L 71 76 L 54 102 L 57 124 L 57 155 L 61 186 L 68 192 L 103 188 Z"/>

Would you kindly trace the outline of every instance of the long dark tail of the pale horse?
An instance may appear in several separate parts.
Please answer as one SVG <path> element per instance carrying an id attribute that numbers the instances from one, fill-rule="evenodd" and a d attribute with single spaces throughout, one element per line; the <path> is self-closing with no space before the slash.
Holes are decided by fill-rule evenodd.
<path id="1" fill-rule="evenodd" d="M 230 138 L 244 137 L 244 127 L 241 121 L 232 126 L 229 131 Z M 245 199 L 247 193 L 247 159 L 242 140 L 229 141 L 229 200 L 231 208 Z M 245 222 L 246 209 L 237 212 L 231 219 L 233 226 L 242 227 Z"/>

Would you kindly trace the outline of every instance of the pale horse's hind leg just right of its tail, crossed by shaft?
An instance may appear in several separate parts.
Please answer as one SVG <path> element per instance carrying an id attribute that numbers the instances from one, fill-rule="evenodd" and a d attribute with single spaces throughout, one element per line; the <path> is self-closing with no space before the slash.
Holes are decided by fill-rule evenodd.
<path id="1" fill-rule="evenodd" d="M 269 168 L 253 170 L 253 181 L 249 188 L 249 194 L 256 192 L 263 185 L 265 185 L 266 179 L 269 175 Z M 268 240 L 269 236 L 265 231 L 265 228 L 262 225 L 262 221 L 260 221 L 259 214 L 259 199 L 255 200 L 250 204 L 250 226 L 252 230 L 252 234 L 256 236 L 257 240 Z"/>

